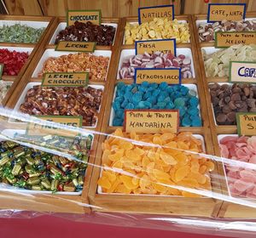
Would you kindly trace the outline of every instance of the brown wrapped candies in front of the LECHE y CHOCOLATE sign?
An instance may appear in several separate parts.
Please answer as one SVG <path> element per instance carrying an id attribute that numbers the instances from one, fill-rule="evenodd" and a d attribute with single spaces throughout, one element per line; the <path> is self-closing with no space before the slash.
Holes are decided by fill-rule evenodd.
<path id="1" fill-rule="evenodd" d="M 29 115 L 83 116 L 83 126 L 94 127 L 101 102 L 102 89 L 38 85 L 27 91 L 20 111 Z"/>

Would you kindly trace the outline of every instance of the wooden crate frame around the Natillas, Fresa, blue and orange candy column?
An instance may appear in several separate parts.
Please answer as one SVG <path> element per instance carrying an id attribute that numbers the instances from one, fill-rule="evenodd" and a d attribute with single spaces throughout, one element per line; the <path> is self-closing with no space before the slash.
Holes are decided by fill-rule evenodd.
<path id="1" fill-rule="evenodd" d="M 195 40 L 193 35 L 193 26 L 191 24 L 191 19 L 189 16 L 177 16 L 178 20 L 188 20 L 189 30 L 191 32 L 190 40 L 191 42 L 186 44 L 178 44 L 177 48 L 190 48 L 192 50 L 193 59 L 195 62 L 195 79 L 185 79 L 184 84 L 195 83 L 199 92 L 199 99 L 201 102 L 201 118 L 203 121 L 202 127 L 180 127 L 180 131 L 191 131 L 193 133 L 201 134 L 205 139 L 205 145 L 207 154 L 213 154 L 212 146 L 212 136 L 210 132 L 208 114 L 207 114 L 207 104 L 205 102 L 204 89 L 201 82 L 201 71 L 200 67 L 196 62 L 197 52 L 195 47 Z M 137 18 L 127 18 L 124 19 L 123 26 L 125 22 L 137 21 Z M 123 41 L 124 31 L 121 37 Z M 115 55 L 116 67 L 113 71 L 113 76 L 116 77 L 118 73 L 119 56 L 122 49 L 134 48 L 134 45 L 123 45 L 119 52 Z M 158 196 L 158 195 L 106 195 L 97 193 L 97 180 L 100 177 L 101 166 L 102 166 L 102 148 L 101 144 L 106 139 L 109 133 L 118 127 L 109 127 L 109 116 L 113 100 L 113 92 L 117 82 L 121 80 L 116 80 L 112 82 L 108 90 L 108 99 L 106 104 L 106 110 L 104 114 L 104 120 L 102 123 L 102 136 L 100 139 L 100 144 L 97 149 L 95 167 L 93 170 L 93 175 L 90 184 L 89 198 L 90 204 L 92 204 L 92 209 L 98 212 L 127 212 L 127 213 L 154 213 L 154 214 L 171 214 L 171 215 L 186 215 L 186 216 L 198 216 L 198 217 L 216 217 L 219 208 L 222 205 L 222 201 L 215 200 L 213 198 L 185 198 L 177 196 Z M 132 81 L 123 81 L 130 84 Z M 218 166 L 212 174 L 212 191 L 221 192 L 221 187 L 218 181 Z"/>

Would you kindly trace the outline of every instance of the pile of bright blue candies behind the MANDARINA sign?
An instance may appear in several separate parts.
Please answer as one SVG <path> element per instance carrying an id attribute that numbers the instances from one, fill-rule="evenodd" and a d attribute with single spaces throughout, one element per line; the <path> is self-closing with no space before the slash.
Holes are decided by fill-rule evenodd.
<path id="1" fill-rule="evenodd" d="M 113 101 L 113 127 L 123 126 L 125 109 L 178 109 L 182 127 L 201 127 L 199 99 L 194 90 L 166 82 L 127 85 L 119 82 Z"/>

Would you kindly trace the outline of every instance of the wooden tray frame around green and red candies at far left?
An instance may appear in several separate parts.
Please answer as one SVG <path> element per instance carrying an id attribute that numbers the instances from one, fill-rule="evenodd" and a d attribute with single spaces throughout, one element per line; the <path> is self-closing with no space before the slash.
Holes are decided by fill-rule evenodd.
<path id="1" fill-rule="evenodd" d="M 8 93 L 5 95 L 2 105 L 5 106 L 11 97 L 14 94 L 15 88 L 18 86 L 21 77 L 25 74 L 27 67 L 30 65 L 33 56 L 38 51 L 38 47 L 44 43 L 45 37 L 47 37 L 48 32 L 55 21 L 55 18 L 48 17 L 48 16 L 26 16 L 26 15 L 0 15 L 0 20 L 19 20 L 19 21 L 49 21 L 48 26 L 44 30 L 42 36 L 40 37 L 38 43 L 14 43 L 14 42 L 0 42 L 1 47 L 20 47 L 20 48 L 33 48 L 32 53 L 29 55 L 28 59 L 26 60 L 25 65 L 20 70 L 18 76 L 11 77 L 11 76 L 3 76 L 3 80 L 13 82 L 12 87 L 9 88 Z M 1 104 L 0 104 L 1 105 Z"/>

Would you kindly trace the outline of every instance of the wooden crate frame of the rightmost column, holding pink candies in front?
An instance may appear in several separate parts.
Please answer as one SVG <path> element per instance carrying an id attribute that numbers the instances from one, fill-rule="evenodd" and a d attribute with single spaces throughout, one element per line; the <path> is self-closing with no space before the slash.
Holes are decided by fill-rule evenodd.
<path id="1" fill-rule="evenodd" d="M 247 18 L 255 17 L 255 14 L 256 14 L 255 12 L 247 13 Z M 201 48 L 214 47 L 214 42 L 200 42 L 198 37 L 198 30 L 195 23 L 196 20 L 206 20 L 206 19 L 207 19 L 206 14 L 199 14 L 199 15 L 192 16 L 194 32 L 195 32 L 194 33 L 195 41 L 196 41 L 196 46 L 198 51 L 199 63 L 201 67 L 203 88 L 205 90 L 205 95 L 206 95 L 207 112 L 209 116 L 210 129 L 212 132 L 212 143 L 214 146 L 214 154 L 216 156 L 221 156 L 219 145 L 218 145 L 218 134 L 236 134 L 237 130 L 235 125 L 218 126 L 214 120 L 215 116 L 212 110 L 212 100 L 211 100 L 208 84 L 213 82 L 229 82 L 229 79 L 228 77 L 207 77 L 206 75 L 204 61 L 201 54 Z M 219 179 L 221 181 L 220 184 L 221 184 L 223 195 L 230 196 L 228 185 L 225 178 L 226 175 L 224 173 L 223 163 L 218 163 L 218 173 L 220 176 Z M 224 201 L 223 205 L 220 208 L 220 211 L 218 212 L 218 218 L 256 218 L 256 208 L 241 206 L 232 202 Z"/>

